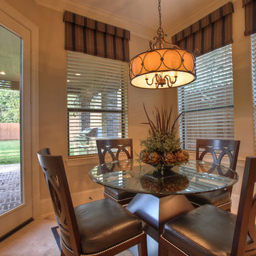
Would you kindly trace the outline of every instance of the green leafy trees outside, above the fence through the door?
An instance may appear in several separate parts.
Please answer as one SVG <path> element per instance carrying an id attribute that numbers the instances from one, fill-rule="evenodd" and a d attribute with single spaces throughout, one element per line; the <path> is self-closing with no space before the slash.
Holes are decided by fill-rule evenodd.
<path id="1" fill-rule="evenodd" d="M 0 122 L 19 122 L 19 109 L 19 91 L 0 89 Z"/>

